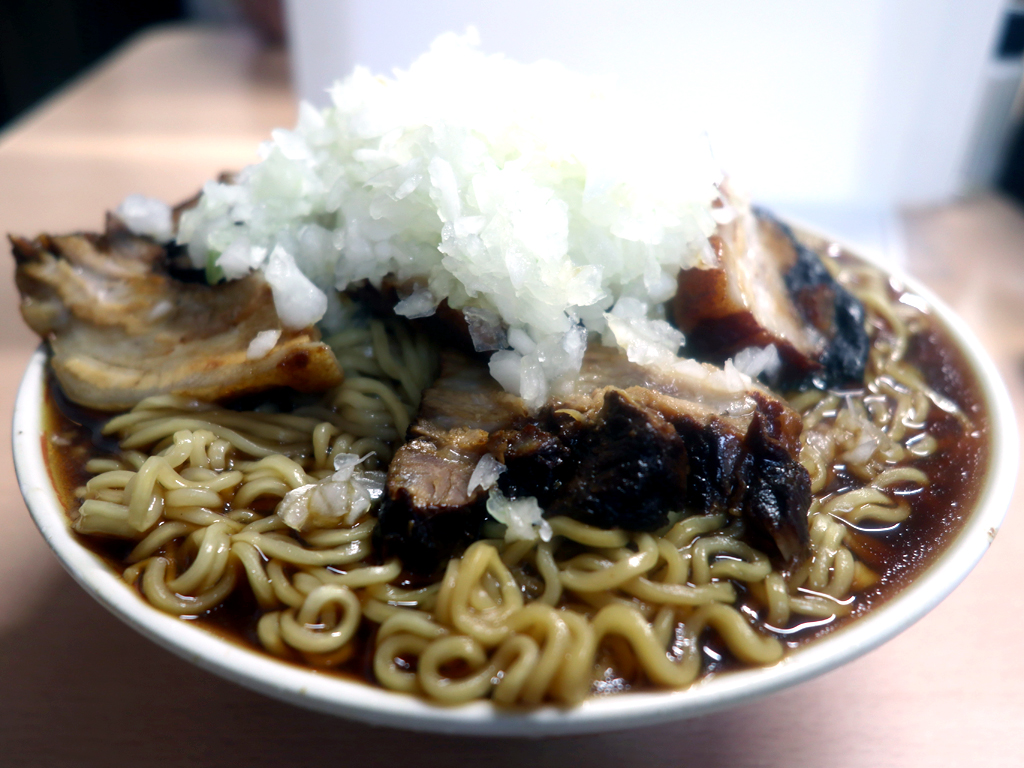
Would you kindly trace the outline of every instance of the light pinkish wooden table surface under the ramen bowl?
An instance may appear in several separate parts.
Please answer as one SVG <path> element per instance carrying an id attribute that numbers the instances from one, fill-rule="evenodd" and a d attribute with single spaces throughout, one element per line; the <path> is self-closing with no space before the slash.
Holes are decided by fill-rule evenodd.
<path id="1" fill-rule="evenodd" d="M 0 134 L 0 231 L 100 226 L 134 191 L 176 201 L 255 159 L 294 104 L 281 53 L 168 28 Z M 973 326 L 1024 414 L 1024 216 L 987 198 L 906 216 L 910 269 Z M 10 265 L 8 265 L 8 273 Z M 0 430 L 36 340 L 0 281 Z M 33 527 L 0 440 L 0 765 L 1024 765 L 1024 526 L 936 610 L 846 667 L 745 707 L 542 741 L 368 728 L 251 693 L 129 630 Z"/>

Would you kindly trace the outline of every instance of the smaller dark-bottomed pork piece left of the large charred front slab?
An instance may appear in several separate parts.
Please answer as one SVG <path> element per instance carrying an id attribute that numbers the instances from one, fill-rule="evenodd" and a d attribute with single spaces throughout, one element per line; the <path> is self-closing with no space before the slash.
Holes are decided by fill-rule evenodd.
<path id="1" fill-rule="evenodd" d="M 479 536 L 486 492 L 469 480 L 492 432 L 525 419 L 525 403 L 490 378 L 486 364 L 459 352 L 441 356 L 407 440 L 388 466 L 378 544 L 407 568 L 431 572 Z"/>

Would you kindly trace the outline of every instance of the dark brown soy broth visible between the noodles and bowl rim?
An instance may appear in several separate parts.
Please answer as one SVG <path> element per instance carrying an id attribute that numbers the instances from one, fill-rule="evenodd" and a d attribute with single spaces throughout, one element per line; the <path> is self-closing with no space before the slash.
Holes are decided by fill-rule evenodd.
<path id="1" fill-rule="evenodd" d="M 870 532 L 851 530 L 844 542 L 880 575 L 880 581 L 857 593 L 854 608 L 848 616 L 825 622 L 794 620 L 780 635 L 790 647 L 798 647 L 829 634 L 896 595 L 950 544 L 977 501 L 991 450 L 988 414 L 983 408 L 980 386 L 971 376 L 963 352 L 934 316 L 929 316 L 928 323 L 930 330 L 913 338 L 907 359 L 919 367 L 933 389 L 959 406 L 973 422 L 973 429 L 965 430 L 955 417 L 932 407 L 926 429 L 937 439 L 938 447 L 929 457 L 908 462 L 908 466 L 925 472 L 931 483 L 920 493 L 905 497 L 910 506 L 909 517 L 891 529 Z M 90 476 L 85 471 L 86 462 L 97 453 L 113 455 L 117 451 L 117 443 L 103 437 L 99 431 L 109 418 L 110 414 L 74 406 L 62 395 L 56 382 L 52 378 L 48 380 L 47 436 L 43 437 L 43 446 L 54 487 L 73 519 L 78 509 L 75 489 L 84 485 Z M 134 546 L 132 542 L 108 537 L 80 536 L 79 541 L 118 572 L 124 570 L 124 559 Z M 239 589 L 222 605 L 193 621 L 221 637 L 259 648 L 256 639 L 259 614 L 253 596 L 248 590 Z M 325 669 L 330 674 L 374 682 L 375 631 L 364 625 L 351 656 L 329 670 L 321 667 L 316 658 L 304 660 L 312 669 Z M 706 674 L 739 666 L 717 638 L 708 638 L 703 648 Z M 298 654 L 293 660 L 303 664 Z M 642 687 L 642 681 L 615 678 L 599 681 L 595 692 L 613 692 L 624 686 L 635 688 L 638 685 Z"/>

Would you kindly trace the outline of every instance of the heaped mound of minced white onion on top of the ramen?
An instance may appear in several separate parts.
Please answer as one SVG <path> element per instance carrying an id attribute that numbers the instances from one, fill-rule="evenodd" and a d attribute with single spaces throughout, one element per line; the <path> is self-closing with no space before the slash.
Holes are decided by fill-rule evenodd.
<path id="1" fill-rule="evenodd" d="M 485 55 L 471 32 L 391 78 L 356 69 L 331 99 L 178 229 L 214 276 L 262 268 L 287 328 L 342 328 L 336 289 L 390 274 L 413 287 L 399 313 L 471 310 L 495 378 L 539 404 L 616 302 L 634 327 L 660 319 L 680 267 L 708 260 L 706 138 L 605 83 Z"/>

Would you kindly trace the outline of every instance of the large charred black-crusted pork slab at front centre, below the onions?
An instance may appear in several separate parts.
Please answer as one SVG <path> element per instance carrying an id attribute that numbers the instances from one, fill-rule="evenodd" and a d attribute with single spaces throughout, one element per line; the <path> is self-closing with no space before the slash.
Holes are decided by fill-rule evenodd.
<path id="1" fill-rule="evenodd" d="M 547 515 L 605 528 L 654 530 L 670 511 L 728 511 L 778 559 L 799 559 L 811 499 L 797 459 L 801 419 L 736 379 L 690 360 L 656 369 L 588 350 L 573 394 L 493 436 L 507 470 L 499 485 L 537 497 Z"/>

